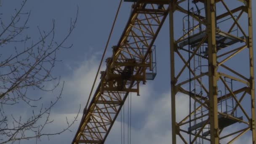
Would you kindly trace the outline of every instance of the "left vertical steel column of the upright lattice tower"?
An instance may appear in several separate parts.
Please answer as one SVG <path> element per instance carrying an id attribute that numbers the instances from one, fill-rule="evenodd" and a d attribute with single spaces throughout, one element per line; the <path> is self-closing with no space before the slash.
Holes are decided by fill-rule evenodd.
<path id="1" fill-rule="evenodd" d="M 169 23 L 170 23 L 170 64 L 171 64 L 171 123 L 172 123 L 172 144 L 176 144 L 176 78 L 175 78 L 175 64 L 174 64 L 174 25 L 173 25 L 173 12 L 174 12 L 174 4 L 176 0 L 170 0 L 169 5 Z"/>

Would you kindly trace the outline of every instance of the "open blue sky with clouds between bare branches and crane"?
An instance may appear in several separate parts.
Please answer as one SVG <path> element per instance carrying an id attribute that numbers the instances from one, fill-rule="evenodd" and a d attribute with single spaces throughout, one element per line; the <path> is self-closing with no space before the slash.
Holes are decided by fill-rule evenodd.
<path id="1" fill-rule="evenodd" d="M 13 11 L 19 7 L 20 0 L 0 0 L 2 11 Z M 25 10 L 31 10 L 28 33 L 35 39 L 39 36 L 37 26 L 41 29 L 49 29 L 52 19 L 56 20 L 56 37 L 61 40 L 67 34 L 70 18 L 74 18 L 77 7 L 79 8 L 78 21 L 72 35 L 67 40 L 67 45 L 73 44 L 71 49 L 59 51 L 58 58 L 62 61 L 56 65 L 53 74 L 61 76 L 65 81 L 62 99 L 54 107 L 51 119 L 54 123 L 49 125 L 47 131 L 61 131 L 66 125 L 65 117 L 72 121 L 78 112 L 85 107 L 92 82 L 99 66 L 99 60 L 103 53 L 112 21 L 117 10 L 117 0 L 28 0 Z M 253 1 L 253 5 L 256 2 Z M 131 12 L 131 3 L 123 3 L 117 24 L 109 43 L 107 57 L 111 56 L 110 48 L 116 45 L 123 32 L 125 24 Z M 253 9 L 256 16 L 256 8 Z M 256 19 L 253 19 L 253 26 Z M 256 27 L 254 28 L 256 29 Z M 167 144 L 171 141 L 171 99 L 170 99 L 170 68 L 169 68 L 169 29 L 168 19 L 165 21 L 160 34 L 155 41 L 157 47 L 157 77 L 154 81 L 147 82 L 141 88 L 141 96 L 133 94 L 132 107 L 132 143 L 133 144 Z M 253 33 L 256 41 L 256 33 Z M 254 43 L 255 48 L 256 43 Z M 256 50 L 255 50 L 256 51 Z M 255 52 L 254 51 L 254 52 Z M 103 64 L 104 65 L 104 64 Z M 58 93 L 37 93 L 44 96 L 47 103 Z M 178 101 L 182 103 L 184 97 Z M 182 111 L 186 106 L 178 106 L 181 113 L 180 119 L 186 113 Z M 187 108 L 188 109 L 188 108 Z M 27 112 L 24 112 L 27 111 Z M 24 107 L 20 113 L 29 115 L 31 109 Z M 19 113 L 19 112 L 18 112 Z M 25 113 L 25 114 L 24 114 Z M 136 119 L 134 118 L 136 117 Z M 72 132 L 66 131 L 61 135 L 51 136 L 50 140 L 43 137 L 39 144 L 69 144 L 71 143 L 78 121 L 72 126 Z M 159 142 L 161 141 L 161 142 Z M 248 143 L 246 137 L 240 142 Z M 34 144 L 35 140 L 21 141 L 21 144 Z M 106 144 L 120 144 L 120 119 L 117 119 Z"/>

